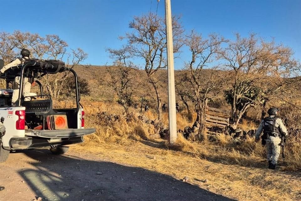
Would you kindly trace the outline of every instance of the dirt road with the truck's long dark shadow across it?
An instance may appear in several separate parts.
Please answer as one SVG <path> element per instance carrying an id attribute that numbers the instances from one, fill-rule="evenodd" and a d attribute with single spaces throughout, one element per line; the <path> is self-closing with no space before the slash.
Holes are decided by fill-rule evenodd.
<path id="1" fill-rule="evenodd" d="M 48 150 L 11 153 L 0 164 L 0 200 L 219 200 L 232 199 L 143 168 L 102 160 L 71 151 L 51 155 Z"/>

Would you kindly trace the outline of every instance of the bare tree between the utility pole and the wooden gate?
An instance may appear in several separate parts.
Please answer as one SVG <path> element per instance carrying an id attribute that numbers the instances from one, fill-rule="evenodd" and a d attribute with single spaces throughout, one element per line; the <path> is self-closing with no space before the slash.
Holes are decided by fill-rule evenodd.
<path id="1" fill-rule="evenodd" d="M 187 70 L 185 82 L 189 90 L 182 95 L 187 95 L 195 101 L 196 121 L 200 124 L 200 136 L 203 136 L 204 133 L 205 100 L 209 97 L 210 92 L 221 88 L 216 71 L 204 68 L 214 68 L 213 62 L 222 50 L 221 45 L 225 41 L 222 36 L 216 34 L 210 34 L 208 38 L 203 38 L 202 35 L 192 30 L 184 42 L 191 52 L 191 61 L 187 62 L 185 66 L 185 70 Z"/>

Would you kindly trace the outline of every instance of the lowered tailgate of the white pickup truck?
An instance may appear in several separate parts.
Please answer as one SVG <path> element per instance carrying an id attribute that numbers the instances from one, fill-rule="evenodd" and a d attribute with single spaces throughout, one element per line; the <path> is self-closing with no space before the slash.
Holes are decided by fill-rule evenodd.
<path id="1" fill-rule="evenodd" d="M 26 130 L 26 136 L 42 138 L 72 138 L 95 133 L 95 128 L 63 129 L 63 130 Z"/>

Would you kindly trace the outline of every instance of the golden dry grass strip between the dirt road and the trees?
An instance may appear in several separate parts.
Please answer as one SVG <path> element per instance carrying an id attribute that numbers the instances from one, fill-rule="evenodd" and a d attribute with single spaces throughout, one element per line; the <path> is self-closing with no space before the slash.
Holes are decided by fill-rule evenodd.
<path id="1" fill-rule="evenodd" d="M 237 200 L 301 200 L 300 173 L 289 172 L 301 170 L 300 143 L 288 146 L 285 163 L 279 159 L 280 170 L 271 171 L 267 170 L 265 147 L 255 143 L 254 138 L 235 141 L 219 134 L 214 142 L 197 143 L 179 135 L 171 146 L 165 140 L 150 139 L 154 133 L 152 125 L 127 122 L 117 104 L 90 100 L 84 100 L 82 104 L 86 111 L 86 127 L 96 128 L 97 132 L 85 137 L 86 141 L 76 148 L 79 151 L 88 150 L 102 159 L 158 171 L 178 179 L 188 176 L 201 188 Z M 102 111 L 120 118 L 101 122 L 96 114 Z M 151 110 L 144 115 L 152 120 L 156 118 Z M 166 124 L 167 118 L 168 114 L 164 113 Z M 191 126 L 192 122 L 177 113 L 177 128 L 183 129 L 187 125 Z M 256 125 L 244 121 L 240 128 L 250 130 Z M 288 139 L 287 143 L 297 140 L 300 141 Z M 148 155 L 156 156 L 156 160 L 146 157 Z M 209 182 L 202 182 L 205 179 Z"/>

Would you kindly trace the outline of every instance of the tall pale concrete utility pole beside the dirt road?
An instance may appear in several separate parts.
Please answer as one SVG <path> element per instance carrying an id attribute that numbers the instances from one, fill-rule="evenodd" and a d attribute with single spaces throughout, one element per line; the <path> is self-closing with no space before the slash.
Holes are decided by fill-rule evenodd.
<path id="1" fill-rule="evenodd" d="M 167 40 L 167 71 L 168 71 L 168 109 L 169 109 L 169 142 L 175 143 L 177 139 L 176 119 L 176 92 L 175 74 L 173 66 L 173 41 L 172 41 L 172 11 L 170 0 L 165 0 L 166 40 Z"/>

